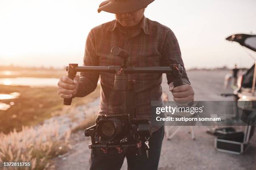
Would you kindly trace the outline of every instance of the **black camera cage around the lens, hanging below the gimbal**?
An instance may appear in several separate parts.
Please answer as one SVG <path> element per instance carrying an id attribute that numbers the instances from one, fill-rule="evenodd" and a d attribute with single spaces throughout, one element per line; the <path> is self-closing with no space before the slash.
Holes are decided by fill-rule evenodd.
<path id="1" fill-rule="evenodd" d="M 122 133 L 114 135 L 107 140 L 100 139 L 100 141 L 96 141 L 97 137 L 102 137 L 102 135 L 98 134 L 102 127 L 100 122 L 111 120 L 111 118 L 124 120 L 122 128 L 125 129 L 122 129 Z M 120 150 L 129 147 L 135 147 L 137 155 L 140 155 L 141 139 L 151 136 L 151 126 L 149 120 L 131 119 L 129 114 L 99 115 L 96 119 L 96 125 L 84 130 L 84 135 L 91 137 L 92 143 L 89 145 L 89 148 L 92 149 L 93 155 L 96 155 L 96 148 L 101 148 L 105 152 L 109 148 L 116 148 L 120 152 Z"/>

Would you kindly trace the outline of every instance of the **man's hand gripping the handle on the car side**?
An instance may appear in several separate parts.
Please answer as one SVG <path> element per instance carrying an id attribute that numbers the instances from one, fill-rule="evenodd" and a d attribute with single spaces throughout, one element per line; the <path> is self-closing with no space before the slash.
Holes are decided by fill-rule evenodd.
<path id="1" fill-rule="evenodd" d="M 181 85 L 174 87 L 173 82 L 169 84 L 173 99 L 177 103 L 189 103 L 194 101 L 194 90 L 191 85 Z"/>

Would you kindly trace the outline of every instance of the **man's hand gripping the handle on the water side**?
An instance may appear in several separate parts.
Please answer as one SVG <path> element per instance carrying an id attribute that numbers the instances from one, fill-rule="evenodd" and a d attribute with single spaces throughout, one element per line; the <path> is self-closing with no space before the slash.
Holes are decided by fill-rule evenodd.
<path id="1" fill-rule="evenodd" d="M 79 75 L 74 77 L 74 80 L 67 76 L 59 78 L 58 82 L 58 94 L 62 98 L 70 98 L 72 95 L 77 94 Z"/>

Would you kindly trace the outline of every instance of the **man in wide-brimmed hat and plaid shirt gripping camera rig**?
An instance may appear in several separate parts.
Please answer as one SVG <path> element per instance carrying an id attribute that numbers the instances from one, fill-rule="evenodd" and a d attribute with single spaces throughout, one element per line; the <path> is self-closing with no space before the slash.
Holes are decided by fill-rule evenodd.
<path id="1" fill-rule="evenodd" d="M 110 54 L 114 46 L 118 46 L 130 54 L 128 65 L 135 67 L 169 66 L 172 63 L 181 64 L 181 52 L 177 39 L 169 28 L 155 21 L 145 18 L 147 5 L 154 0 L 110 0 L 101 3 L 98 12 L 105 11 L 115 14 L 115 20 L 93 28 L 86 41 L 84 65 L 109 66 L 121 65 L 120 57 Z M 74 81 L 68 77 L 60 77 L 58 83 L 59 95 L 63 98 L 84 97 L 97 87 L 100 76 L 100 110 L 99 114 L 122 113 L 124 107 L 124 92 L 113 90 L 114 74 L 84 73 L 75 77 Z M 183 72 L 184 85 L 173 86 L 172 76 L 167 74 L 169 89 L 174 100 L 179 103 L 189 103 L 194 100 L 194 91 L 189 85 L 187 74 Z M 136 80 L 137 94 L 136 118 L 150 119 L 151 101 L 161 101 L 162 75 L 136 73 L 128 80 Z M 110 150 L 103 153 L 97 150 L 97 157 L 90 159 L 90 170 L 118 170 L 126 157 L 129 170 L 157 170 L 162 139 L 163 127 L 154 127 L 149 139 L 149 158 L 144 147 L 141 156 L 135 155 L 133 148 L 126 153 Z"/>

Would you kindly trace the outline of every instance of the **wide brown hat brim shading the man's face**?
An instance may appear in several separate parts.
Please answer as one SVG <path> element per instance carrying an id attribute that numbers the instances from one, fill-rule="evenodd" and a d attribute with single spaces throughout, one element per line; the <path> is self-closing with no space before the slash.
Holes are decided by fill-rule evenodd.
<path id="1" fill-rule="evenodd" d="M 131 13 L 136 10 L 140 10 L 152 3 L 154 0 L 126 0 L 126 1 L 109 1 L 106 0 L 100 4 L 98 13 L 105 11 L 107 13 L 122 14 Z"/>

